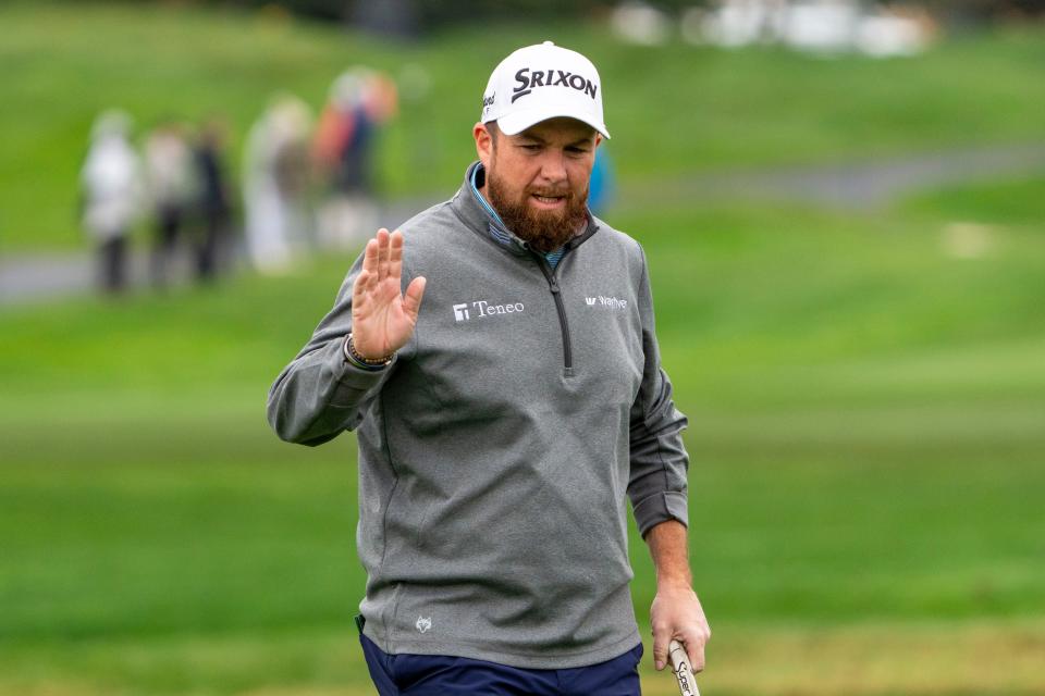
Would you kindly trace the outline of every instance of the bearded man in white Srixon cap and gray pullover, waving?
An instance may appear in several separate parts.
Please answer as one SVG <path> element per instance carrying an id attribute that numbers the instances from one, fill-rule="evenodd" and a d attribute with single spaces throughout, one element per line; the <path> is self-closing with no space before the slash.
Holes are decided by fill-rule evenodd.
<path id="1" fill-rule="evenodd" d="M 702 669 L 710 630 L 646 259 L 585 204 L 610 137 L 594 66 L 519 49 L 472 135 L 457 195 L 367 244 L 269 420 L 308 445 L 358 428 L 358 623 L 383 696 L 638 694 L 626 497 L 656 668 L 675 637 Z"/>

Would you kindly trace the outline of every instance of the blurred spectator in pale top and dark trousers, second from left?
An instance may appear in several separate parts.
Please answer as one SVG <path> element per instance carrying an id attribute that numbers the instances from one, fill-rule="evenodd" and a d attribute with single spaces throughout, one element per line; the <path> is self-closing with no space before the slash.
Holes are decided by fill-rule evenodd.
<path id="1" fill-rule="evenodd" d="M 170 281 L 170 266 L 177 239 L 194 198 L 193 154 L 181 125 L 158 126 L 145 142 L 149 201 L 155 216 L 150 271 L 152 284 L 162 288 Z"/>

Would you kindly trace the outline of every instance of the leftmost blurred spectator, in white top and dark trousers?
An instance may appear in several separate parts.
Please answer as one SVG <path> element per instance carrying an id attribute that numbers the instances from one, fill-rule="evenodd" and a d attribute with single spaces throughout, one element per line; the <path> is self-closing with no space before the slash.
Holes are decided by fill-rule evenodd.
<path id="1" fill-rule="evenodd" d="M 130 130 L 124 112 L 100 114 L 81 173 L 84 227 L 98 247 L 98 279 L 107 293 L 126 286 L 127 234 L 140 203 L 140 166 Z"/>

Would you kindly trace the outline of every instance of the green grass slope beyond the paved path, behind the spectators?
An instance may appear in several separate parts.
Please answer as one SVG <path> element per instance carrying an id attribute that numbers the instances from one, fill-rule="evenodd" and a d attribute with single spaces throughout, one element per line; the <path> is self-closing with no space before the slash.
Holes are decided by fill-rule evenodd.
<path id="1" fill-rule="evenodd" d="M 470 124 L 491 67 L 552 38 L 588 53 L 604 78 L 622 179 L 701 169 L 868 157 L 1041 140 L 1042 30 L 954 37 L 911 60 L 825 61 L 778 50 L 718 51 L 679 41 L 623 46 L 603 26 L 448 32 L 417 45 L 369 39 L 270 13 L 181 3 L 11 2 L 0 7 L 0 249 L 74 248 L 77 172 L 95 115 L 122 107 L 139 133 L 174 115 L 224 114 L 233 162 L 276 91 L 315 110 L 333 77 L 365 63 L 398 77 L 420 66 L 382 137 L 393 195 L 444 191 L 474 153 Z"/>

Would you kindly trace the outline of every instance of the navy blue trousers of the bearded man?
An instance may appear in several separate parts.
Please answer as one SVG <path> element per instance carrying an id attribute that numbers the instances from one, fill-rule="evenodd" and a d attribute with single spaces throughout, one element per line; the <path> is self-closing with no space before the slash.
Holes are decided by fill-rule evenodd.
<path id="1" fill-rule="evenodd" d="M 566 670 L 524 670 L 442 655 L 389 655 L 359 636 L 381 696 L 640 696 L 642 644 L 624 655 Z"/>

